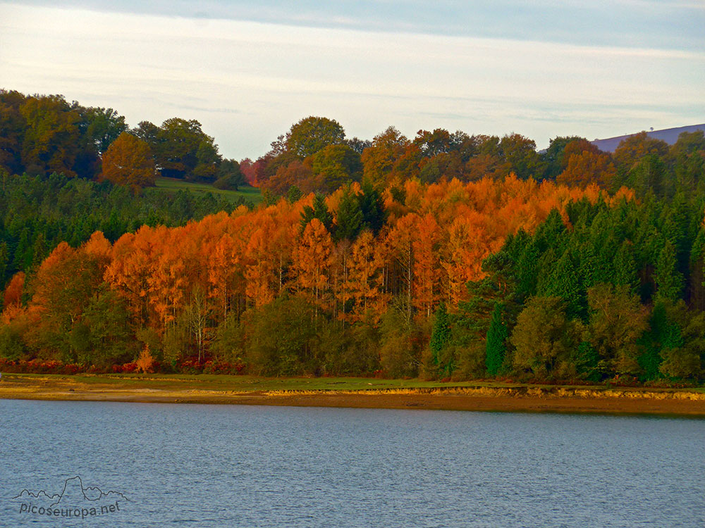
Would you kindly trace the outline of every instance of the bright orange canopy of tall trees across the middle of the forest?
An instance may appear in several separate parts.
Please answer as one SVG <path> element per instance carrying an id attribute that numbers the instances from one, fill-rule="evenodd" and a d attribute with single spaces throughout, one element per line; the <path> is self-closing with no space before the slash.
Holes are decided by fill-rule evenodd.
<path id="1" fill-rule="evenodd" d="M 457 307 L 465 284 L 483 277 L 482 260 L 508 234 L 532 232 L 553 208 L 567 221 L 565 206 L 572 200 L 633 198 L 627 190 L 610 198 L 595 185 L 570 188 L 513 175 L 470 183 L 407 180 L 403 192 L 403 201 L 386 194 L 389 216 L 379 234 L 362 231 L 353 241 L 334 241 L 317 219 L 301 229 L 310 195 L 256 210 L 240 207 L 184 227 L 143 226 L 112 246 L 96 233 L 82 248 L 63 244 L 47 258 L 32 303 L 65 302 L 71 308 L 51 289 L 66 282 L 80 290 L 73 277 L 82 272 L 87 280 L 102 279 L 126 301 L 137 324 L 157 332 L 198 292 L 204 294 L 209 324 L 231 310 L 270 303 L 285 291 L 347 322 L 379 320 L 393 296 L 405 301 L 409 316 L 427 317 L 441 301 Z M 336 215 L 339 196 L 328 202 Z M 9 295 L 11 302 L 15 298 Z"/>

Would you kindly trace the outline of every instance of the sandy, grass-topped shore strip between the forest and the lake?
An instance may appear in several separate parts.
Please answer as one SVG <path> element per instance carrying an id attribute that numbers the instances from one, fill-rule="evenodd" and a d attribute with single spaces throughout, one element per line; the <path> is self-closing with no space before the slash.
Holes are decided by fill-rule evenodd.
<path id="1" fill-rule="evenodd" d="M 688 389 L 447 386 L 361 391 L 228 391 L 135 385 L 139 384 L 106 383 L 99 378 L 86 383 L 71 377 L 3 377 L 0 398 L 705 417 L 705 393 Z"/>

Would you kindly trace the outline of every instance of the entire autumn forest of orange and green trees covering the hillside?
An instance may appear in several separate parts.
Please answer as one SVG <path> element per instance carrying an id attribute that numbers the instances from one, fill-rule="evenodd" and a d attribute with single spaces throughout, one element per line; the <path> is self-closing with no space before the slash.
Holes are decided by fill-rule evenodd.
<path id="1" fill-rule="evenodd" d="M 226 202 L 159 176 L 259 187 Z M 705 139 L 200 124 L 0 91 L 0 368 L 699 383 Z"/>

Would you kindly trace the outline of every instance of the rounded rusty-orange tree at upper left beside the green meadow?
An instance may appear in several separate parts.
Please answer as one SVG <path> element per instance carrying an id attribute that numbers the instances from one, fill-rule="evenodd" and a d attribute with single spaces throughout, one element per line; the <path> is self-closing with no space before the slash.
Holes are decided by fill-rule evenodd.
<path id="1" fill-rule="evenodd" d="M 128 132 L 118 136 L 103 155 L 101 177 L 135 191 L 154 187 L 156 172 L 149 145 Z"/>

